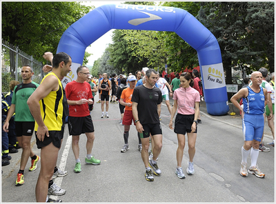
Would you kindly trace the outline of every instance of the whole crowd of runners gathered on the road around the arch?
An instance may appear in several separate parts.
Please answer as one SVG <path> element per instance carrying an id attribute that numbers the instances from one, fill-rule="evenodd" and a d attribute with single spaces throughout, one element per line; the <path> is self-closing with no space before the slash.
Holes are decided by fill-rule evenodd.
<path id="1" fill-rule="evenodd" d="M 177 73 L 175 79 L 170 82 L 168 75 L 162 77 L 162 74 L 149 68 L 141 68 L 135 75 L 129 73 L 127 77 L 123 74 L 119 76 L 111 74 L 108 78 L 107 73 L 102 73 L 97 78 L 90 74 L 86 66 L 79 66 L 75 73 L 77 79 L 67 83 L 63 88 L 61 80 L 72 71 L 71 57 L 64 52 L 59 52 L 55 56 L 51 52 L 46 52 L 43 57 L 52 65 L 43 67 L 43 71 L 48 74 L 40 84 L 32 81 L 34 73 L 30 65 L 24 65 L 21 68 L 23 82 L 10 81 L 10 92 L 6 96 L 2 94 L 2 166 L 9 165 L 12 159 L 9 153 L 17 153 L 17 149 L 22 148 L 21 163 L 15 181 L 15 185 L 20 186 L 25 183 L 24 170 L 29 156 L 30 172 L 36 170 L 37 164 L 41 163 L 35 187 L 37 202 L 61 202 L 48 198 L 48 194 L 59 196 L 66 193 L 66 190 L 61 189 L 53 181 L 68 174 L 67 171 L 57 167 L 57 156 L 66 122 L 69 134 L 72 135 L 72 152 L 76 161 L 74 172 L 81 172 L 81 159 L 79 159 L 81 134 L 86 134 L 87 139 L 85 163 L 101 164 L 101 161 L 92 155 L 95 127 L 91 111 L 95 108 L 94 103 L 101 103 L 102 113 L 99 117 L 106 119 L 110 117 L 108 114 L 110 103 L 119 103 L 119 125 L 124 125 L 122 136 L 124 145 L 121 152 L 130 149 L 128 138 L 130 125 L 133 124 L 137 130 L 137 149 L 141 152 L 146 181 L 154 181 L 153 174 L 161 175 L 157 161 L 162 149 L 160 121 L 161 103 L 164 100 L 170 114 L 168 127 L 174 130 L 178 141 L 175 174 L 179 179 L 186 178 L 182 170 L 186 135 L 188 139 L 186 172 L 188 175 L 195 174 L 193 159 L 197 125 L 201 123 L 199 107 L 204 97 L 197 70 L 193 70 L 192 73 Z M 248 176 L 248 173 L 260 178 L 265 176 L 259 170 L 257 158 L 259 151 L 269 151 L 269 147 L 262 143 L 266 118 L 273 133 L 273 141 L 267 145 L 274 147 L 274 73 L 270 74 L 271 79 L 266 79 L 267 76 L 265 68 L 253 72 L 251 81 L 248 80 L 244 88 L 231 98 L 233 104 L 240 110 L 243 120 L 244 145 L 239 172 L 242 176 Z M 99 94 L 97 102 L 96 94 Z M 174 101 L 172 105 L 170 98 Z M 30 147 L 33 132 L 37 148 L 41 149 L 40 156 L 34 154 Z M 249 154 L 251 165 L 247 170 Z"/>

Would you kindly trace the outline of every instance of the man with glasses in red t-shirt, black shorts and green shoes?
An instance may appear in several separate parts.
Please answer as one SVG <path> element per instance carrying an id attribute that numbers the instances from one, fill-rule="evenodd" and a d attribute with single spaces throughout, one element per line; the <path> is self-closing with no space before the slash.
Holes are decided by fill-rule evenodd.
<path id="1" fill-rule="evenodd" d="M 75 155 L 76 165 L 74 172 L 81 172 L 81 160 L 79 159 L 79 135 L 85 133 L 86 141 L 86 163 L 99 165 L 101 161 L 95 159 L 91 152 L 95 139 L 95 130 L 90 116 L 88 105 L 93 103 L 90 84 L 86 81 L 90 76 L 86 66 L 77 68 L 77 80 L 66 85 L 66 98 L 69 105 L 68 127 L 72 135 L 72 150 Z"/>

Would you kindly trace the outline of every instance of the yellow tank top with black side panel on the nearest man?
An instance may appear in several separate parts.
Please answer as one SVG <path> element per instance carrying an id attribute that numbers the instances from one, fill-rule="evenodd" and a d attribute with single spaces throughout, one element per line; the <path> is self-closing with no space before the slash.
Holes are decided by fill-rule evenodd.
<path id="1" fill-rule="evenodd" d="M 41 83 L 43 83 L 46 77 L 54 75 L 57 77 L 56 74 L 50 72 L 42 79 Z M 59 78 L 57 77 L 59 80 Z M 45 123 L 46 127 L 49 131 L 55 130 L 60 131 L 62 125 L 62 114 L 63 114 L 63 91 L 62 91 L 62 84 L 59 80 L 59 89 L 57 91 L 52 91 L 48 94 L 44 99 L 39 101 L 40 104 L 40 111 L 43 122 Z M 37 131 L 38 125 L 37 122 L 34 125 L 34 130 Z"/>

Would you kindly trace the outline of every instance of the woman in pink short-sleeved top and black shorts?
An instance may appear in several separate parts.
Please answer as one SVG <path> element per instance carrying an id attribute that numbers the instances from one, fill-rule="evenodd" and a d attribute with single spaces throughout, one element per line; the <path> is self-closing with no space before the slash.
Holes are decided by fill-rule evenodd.
<path id="1" fill-rule="evenodd" d="M 199 92 L 193 87 L 193 79 L 190 73 L 181 73 L 180 75 L 181 87 L 175 90 L 173 94 L 174 105 L 172 107 L 172 114 L 170 116 L 169 127 L 172 128 L 172 120 L 175 117 L 175 133 L 177 134 L 178 148 L 177 148 L 177 169 L 175 174 L 179 179 L 185 179 L 181 163 L 185 147 L 185 134 L 188 135 L 188 154 L 190 161 L 188 162 L 187 173 L 189 175 L 195 174 L 193 165 L 193 158 L 195 156 L 195 141 L 197 139 L 197 119 L 199 116 Z M 178 109 L 177 109 L 178 108 Z"/>

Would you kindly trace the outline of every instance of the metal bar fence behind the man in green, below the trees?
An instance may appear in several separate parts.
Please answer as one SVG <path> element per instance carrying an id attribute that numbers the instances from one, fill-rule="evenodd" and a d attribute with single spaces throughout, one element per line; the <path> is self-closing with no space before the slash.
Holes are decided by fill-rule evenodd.
<path id="1" fill-rule="evenodd" d="M 33 59 L 32 56 L 22 52 L 18 47 L 15 47 L 2 39 L 1 83 L 3 94 L 10 91 L 9 83 L 11 80 L 16 80 L 22 83 L 21 68 L 23 65 L 30 65 L 34 72 L 32 81 L 40 83 L 43 78 L 43 63 Z"/>

